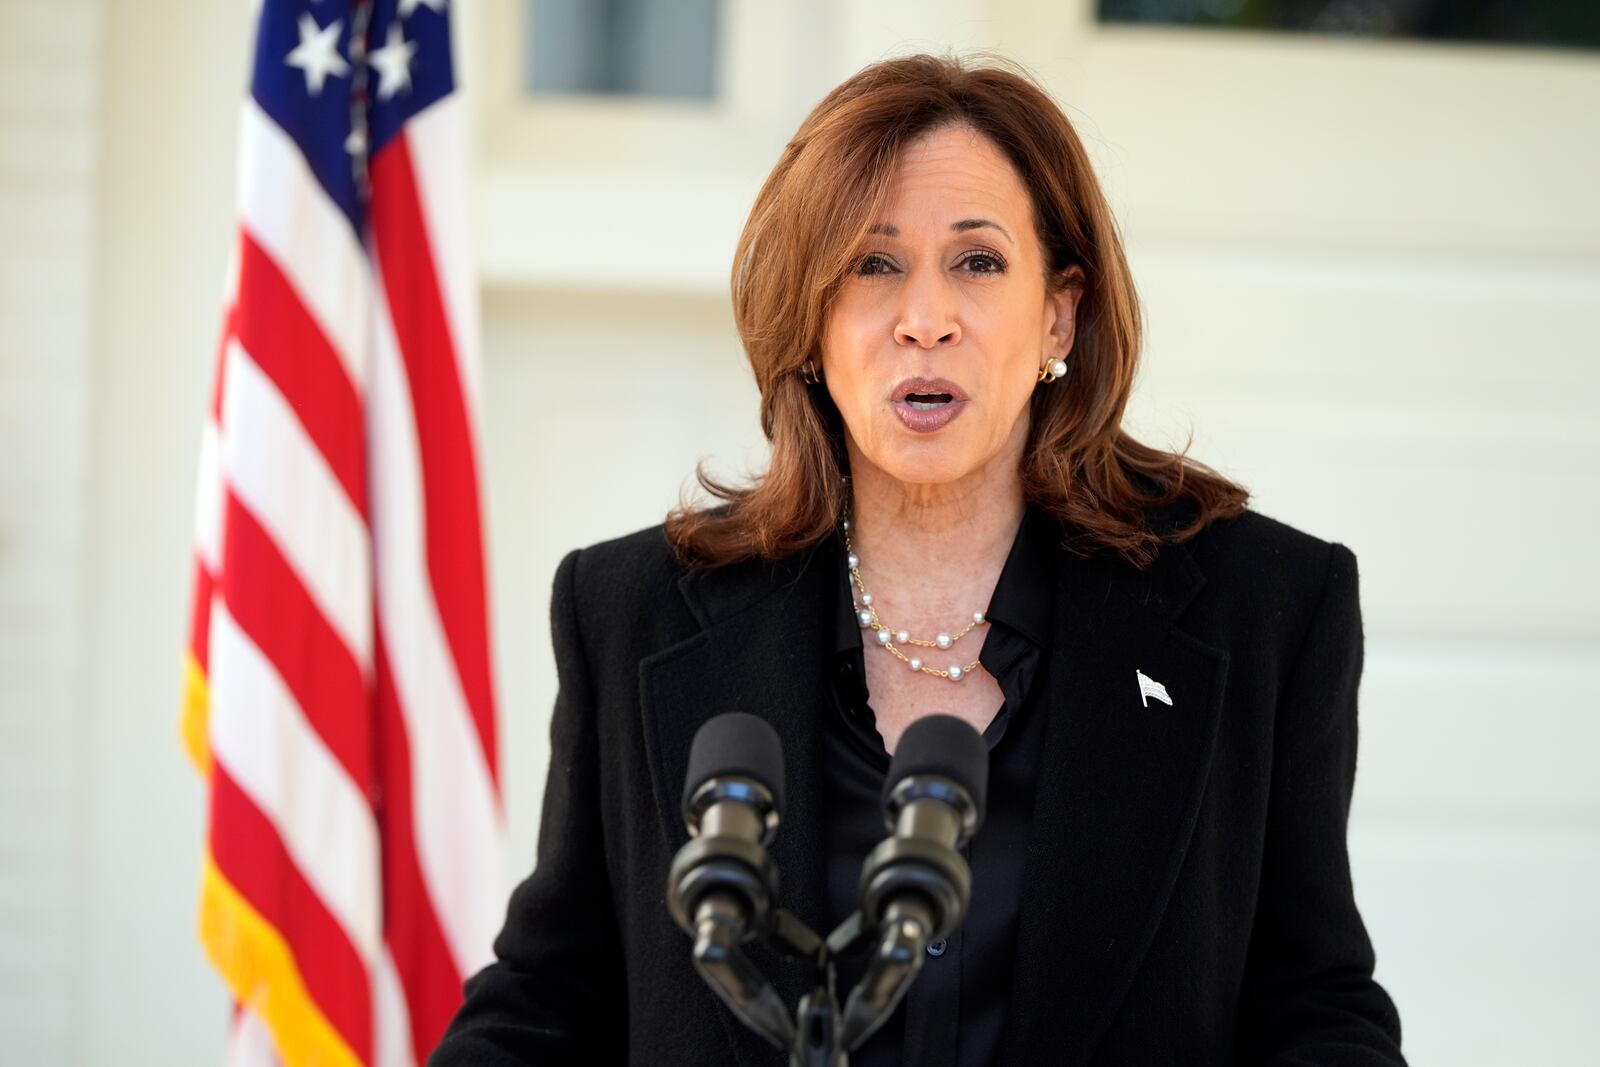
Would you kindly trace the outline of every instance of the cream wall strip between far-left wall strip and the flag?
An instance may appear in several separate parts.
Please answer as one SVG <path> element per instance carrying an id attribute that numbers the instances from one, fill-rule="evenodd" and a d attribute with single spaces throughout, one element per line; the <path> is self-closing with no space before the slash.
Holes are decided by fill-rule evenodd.
<path id="1" fill-rule="evenodd" d="M 72 1005 L 85 1064 L 216 1062 L 226 1025 L 194 933 L 205 811 L 178 707 L 246 6 L 104 3 Z"/>

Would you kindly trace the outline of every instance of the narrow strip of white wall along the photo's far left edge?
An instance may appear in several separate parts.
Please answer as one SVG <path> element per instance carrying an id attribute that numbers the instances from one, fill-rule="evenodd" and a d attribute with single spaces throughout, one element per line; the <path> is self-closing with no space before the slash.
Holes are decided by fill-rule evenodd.
<path id="1" fill-rule="evenodd" d="M 0 1059 L 74 1048 L 101 5 L 0 5 Z"/>

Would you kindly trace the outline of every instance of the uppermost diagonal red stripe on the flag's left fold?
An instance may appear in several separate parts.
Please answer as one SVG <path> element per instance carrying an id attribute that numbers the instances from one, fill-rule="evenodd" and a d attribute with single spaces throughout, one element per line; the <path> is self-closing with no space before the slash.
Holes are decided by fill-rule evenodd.
<path id="1" fill-rule="evenodd" d="M 234 333 L 294 408 L 307 437 L 365 518 L 366 430 L 355 382 L 293 283 L 250 234 L 240 238 Z"/>

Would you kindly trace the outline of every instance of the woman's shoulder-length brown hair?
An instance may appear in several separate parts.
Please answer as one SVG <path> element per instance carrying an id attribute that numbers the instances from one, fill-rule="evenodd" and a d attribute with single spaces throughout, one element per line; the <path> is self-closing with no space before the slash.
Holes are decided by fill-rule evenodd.
<path id="1" fill-rule="evenodd" d="M 822 365 L 834 296 L 890 194 L 901 149 L 933 130 L 963 125 L 989 136 L 1018 170 L 1034 203 L 1046 285 L 1085 275 L 1066 378 L 1034 390 L 1022 459 L 1024 496 L 1064 526 L 1077 555 L 1122 553 L 1149 566 L 1162 534 L 1146 509 L 1184 506 L 1186 541 L 1240 514 L 1246 490 L 1182 453 L 1136 442 L 1122 429 L 1139 362 L 1139 298 L 1117 224 L 1072 125 L 1032 77 L 994 56 L 906 56 L 872 64 L 829 93 L 789 141 L 739 237 L 733 310 L 762 392 L 771 462 L 749 485 L 696 470 L 720 499 L 686 502 L 666 534 L 688 566 L 782 558 L 832 534 L 843 506 L 843 421 L 826 387 L 800 366 Z M 1192 443 L 1192 437 L 1190 437 Z"/>

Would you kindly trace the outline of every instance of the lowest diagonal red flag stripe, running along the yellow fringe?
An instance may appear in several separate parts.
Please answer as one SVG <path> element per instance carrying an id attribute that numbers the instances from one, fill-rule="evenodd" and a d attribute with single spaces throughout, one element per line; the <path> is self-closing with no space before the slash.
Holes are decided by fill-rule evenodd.
<path id="1" fill-rule="evenodd" d="M 290 859 L 277 827 L 219 761 L 211 766 L 211 854 L 218 869 L 283 936 L 306 992 L 360 1061 L 370 1064 L 373 997 L 366 966 Z"/>

